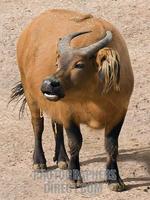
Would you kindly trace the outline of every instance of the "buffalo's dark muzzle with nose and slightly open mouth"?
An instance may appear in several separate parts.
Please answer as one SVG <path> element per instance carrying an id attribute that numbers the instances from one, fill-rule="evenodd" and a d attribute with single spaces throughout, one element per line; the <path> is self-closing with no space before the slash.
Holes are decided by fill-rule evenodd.
<path id="1" fill-rule="evenodd" d="M 44 97 L 46 97 L 50 101 L 58 101 L 64 98 L 64 90 L 59 82 L 55 82 L 52 80 L 45 80 L 41 86 L 41 92 Z"/>

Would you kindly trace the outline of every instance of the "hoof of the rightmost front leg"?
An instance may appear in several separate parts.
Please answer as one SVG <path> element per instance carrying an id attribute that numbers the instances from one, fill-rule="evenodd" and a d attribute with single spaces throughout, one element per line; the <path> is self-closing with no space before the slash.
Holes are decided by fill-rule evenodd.
<path id="1" fill-rule="evenodd" d="M 116 182 L 116 183 L 109 183 L 108 187 L 110 190 L 115 192 L 122 192 L 127 190 L 127 186 L 122 182 Z"/>

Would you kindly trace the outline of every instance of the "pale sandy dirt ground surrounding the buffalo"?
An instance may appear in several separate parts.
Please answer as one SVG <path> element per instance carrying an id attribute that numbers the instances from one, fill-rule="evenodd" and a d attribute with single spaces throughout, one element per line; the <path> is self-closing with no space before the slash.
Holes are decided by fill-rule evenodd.
<path id="1" fill-rule="evenodd" d="M 150 2 L 147 0 L 0 0 L 0 200 L 150 199 Z M 43 137 L 50 169 L 32 172 L 33 132 L 30 114 L 18 119 L 18 107 L 7 108 L 10 90 L 19 80 L 16 41 L 34 16 L 49 8 L 90 12 L 111 21 L 126 39 L 135 88 L 120 136 L 119 168 L 128 190 L 111 192 L 103 183 L 106 154 L 102 131 L 82 127 L 81 169 L 85 187 L 63 188 L 65 171 L 52 161 L 54 137 L 46 119 Z M 89 174 L 87 174 L 87 172 Z M 96 176 L 100 174 L 100 176 Z"/>

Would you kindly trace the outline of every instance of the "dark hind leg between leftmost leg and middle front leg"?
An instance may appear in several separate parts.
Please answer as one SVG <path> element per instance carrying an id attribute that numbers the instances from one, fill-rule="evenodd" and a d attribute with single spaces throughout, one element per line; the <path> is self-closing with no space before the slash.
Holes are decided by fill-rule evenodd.
<path id="1" fill-rule="evenodd" d="M 56 142 L 54 162 L 57 162 L 57 165 L 60 169 L 66 169 L 68 167 L 69 158 L 64 145 L 63 126 L 52 121 L 52 127 Z"/>

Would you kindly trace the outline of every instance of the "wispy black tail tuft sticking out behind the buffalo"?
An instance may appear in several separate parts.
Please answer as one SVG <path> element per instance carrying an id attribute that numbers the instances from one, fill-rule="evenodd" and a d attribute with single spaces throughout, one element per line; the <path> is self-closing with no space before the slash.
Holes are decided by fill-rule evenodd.
<path id="1" fill-rule="evenodd" d="M 11 90 L 11 96 L 10 96 L 9 103 L 11 103 L 12 101 L 15 101 L 16 104 L 18 104 L 20 101 L 22 101 L 22 104 L 21 104 L 20 110 L 19 110 L 19 119 L 20 119 L 24 114 L 25 105 L 27 102 L 25 95 L 24 95 L 24 89 L 23 89 L 21 81 L 19 81 L 16 84 L 16 86 L 13 87 Z"/>

